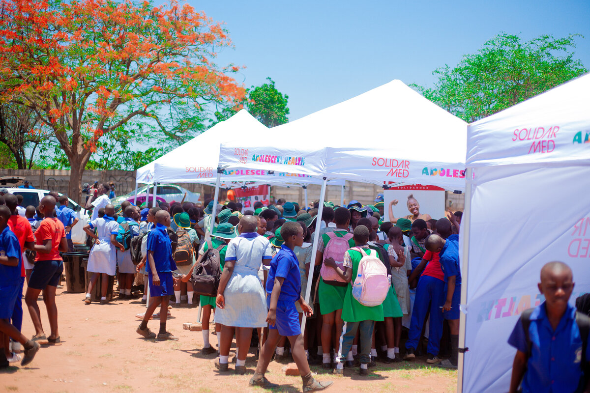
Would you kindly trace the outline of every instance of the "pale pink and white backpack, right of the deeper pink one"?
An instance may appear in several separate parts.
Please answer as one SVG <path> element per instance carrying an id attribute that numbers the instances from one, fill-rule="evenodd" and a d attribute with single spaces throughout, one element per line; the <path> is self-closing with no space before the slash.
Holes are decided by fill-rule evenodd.
<path id="1" fill-rule="evenodd" d="M 387 275 L 387 269 L 376 256 L 369 255 L 360 247 L 355 247 L 362 254 L 357 270 L 355 282 L 352 284 L 352 296 L 360 304 L 367 307 L 378 306 L 387 297 L 391 280 Z"/>

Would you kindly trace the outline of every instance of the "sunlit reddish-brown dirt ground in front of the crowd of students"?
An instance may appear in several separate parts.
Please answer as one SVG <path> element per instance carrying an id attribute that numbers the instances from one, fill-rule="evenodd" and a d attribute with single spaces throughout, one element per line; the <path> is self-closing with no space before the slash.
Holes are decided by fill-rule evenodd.
<path id="1" fill-rule="evenodd" d="M 64 286 L 65 287 L 65 286 Z M 11 366 L 0 372 L 0 392 L 248 392 L 254 373 L 254 354 L 248 355 L 246 375 L 220 374 L 214 367 L 215 355 L 202 355 L 201 332 L 182 329 L 183 322 L 196 322 L 197 308 L 172 309 L 168 330 L 176 342 L 146 341 L 135 332 L 143 312 L 139 300 L 113 300 L 109 305 L 84 305 L 82 293 L 58 289 L 60 336 L 63 345 L 42 346 L 27 367 Z M 24 303 L 24 301 L 23 301 Z M 45 308 L 40 300 L 42 323 L 49 335 Z M 158 331 L 159 322 L 148 325 Z M 23 332 L 34 334 L 25 309 Z M 215 345 L 217 339 L 210 338 Z M 230 365 L 230 369 L 233 366 Z M 267 378 L 280 384 L 274 391 L 301 391 L 300 377 L 286 377 L 283 365 L 271 362 Z M 334 381 L 331 392 L 454 392 L 457 372 L 427 366 L 424 359 L 392 366 L 378 363 L 367 377 L 356 369 L 345 375 L 327 375 L 312 366 L 318 379 Z"/>

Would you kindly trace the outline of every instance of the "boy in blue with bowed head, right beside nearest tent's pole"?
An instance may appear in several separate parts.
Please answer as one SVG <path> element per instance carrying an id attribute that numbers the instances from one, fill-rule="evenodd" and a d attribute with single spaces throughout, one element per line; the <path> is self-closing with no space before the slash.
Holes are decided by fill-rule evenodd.
<path id="1" fill-rule="evenodd" d="M 438 235 L 430 235 L 424 246 L 432 253 L 438 252 L 445 282 L 445 303 L 442 316 L 448 321 L 451 333 L 451 357 L 440 363 L 446 368 L 457 368 L 459 344 L 459 303 L 461 302 L 461 268 L 459 266 L 459 235 L 451 235 L 442 239 Z"/>

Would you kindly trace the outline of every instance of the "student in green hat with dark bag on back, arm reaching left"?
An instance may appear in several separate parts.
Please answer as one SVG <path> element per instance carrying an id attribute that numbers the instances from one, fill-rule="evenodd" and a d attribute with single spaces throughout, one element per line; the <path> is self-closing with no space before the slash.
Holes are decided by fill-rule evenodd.
<path id="1" fill-rule="evenodd" d="M 192 271 L 201 259 L 209 247 L 214 247 L 219 250 L 219 262 L 221 263 L 221 270 L 225 265 L 225 252 L 227 251 L 227 245 L 231 239 L 235 237 L 235 227 L 230 223 L 222 223 L 215 227 L 213 233 L 211 233 L 211 240 L 205 242 L 201 250 L 199 251 L 199 257 L 196 262 L 191 266 L 191 270 L 182 277 L 182 282 L 188 282 L 192 276 Z M 203 349 L 204 355 L 210 355 L 217 352 L 215 348 L 209 344 L 209 319 L 211 318 L 211 311 L 215 309 L 215 298 L 213 296 L 202 296 L 200 298 L 201 309 L 203 315 L 202 321 L 202 335 L 203 335 Z M 221 333 L 221 323 L 215 323 L 215 337 L 217 337 L 217 345 L 219 345 L 219 334 Z"/>

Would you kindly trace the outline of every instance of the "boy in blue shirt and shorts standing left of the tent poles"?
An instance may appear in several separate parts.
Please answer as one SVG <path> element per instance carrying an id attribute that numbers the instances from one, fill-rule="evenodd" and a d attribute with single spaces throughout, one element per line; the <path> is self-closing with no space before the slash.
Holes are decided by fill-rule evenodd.
<path id="1" fill-rule="evenodd" d="M 159 341 L 178 340 L 172 333 L 166 331 L 168 302 L 173 292 L 172 272 L 176 270 L 176 263 L 172 259 L 172 243 L 166 233 L 166 227 L 169 226 L 170 214 L 166 210 L 159 210 L 156 213 L 156 228 L 148 234 L 146 272 L 148 272 L 150 292 L 149 305 L 142 323 L 136 329 L 136 332 L 143 338 L 155 338 Z M 160 306 L 160 331 L 156 336 L 148 329 L 148 321 L 158 306 Z"/>

